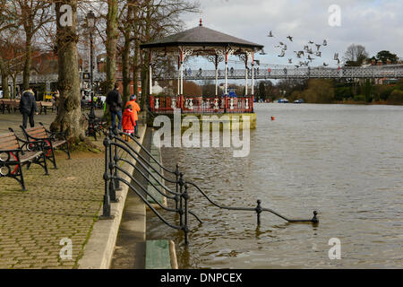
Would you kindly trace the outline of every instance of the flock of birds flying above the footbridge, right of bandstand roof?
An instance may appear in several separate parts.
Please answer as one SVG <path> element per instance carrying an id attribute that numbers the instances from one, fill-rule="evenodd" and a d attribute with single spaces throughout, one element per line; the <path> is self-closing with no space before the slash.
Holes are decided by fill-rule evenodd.
<path id="1" fill-rule="evenodd" d="M 275 38 L 275 36 L 273 35 L 273 32 L 270 30 L 269 38 Z M 287 36 L 287 39 L 290 42 L 293 42 L 294 37 L 292 36 Z M 313 46 L 314 44 L 314 46 Z M 313 55 L 315 57 L 322 57 L 322 51 L 321 51 L 321 47 L 326 47 L 328 46 L 328 41 L 326 39 L 323 40 L 322 44 L 315 44 L 312 40 L 310 40 L 307 45 L 304 45 L 304 48 L 302 50 L 298 50 L 298 51 L 294 51 L 294 53 L 296 54 L 296 58 L 299 58 L 301 60 L 298 61 L 296 67 L 299 68 L 300 66 L 306 65 L 309 66 L 310 63 L 313 62 L 313 60 L 315 59 L 313 57 Z M 279 54 L 279 57 L 286 57 L 286 52 L 287 52 L 287 44 L 284 42 L 279 42 L 279 45 L 274 46 L 275 48 L 280 48 L 281 52 Z M 314 50 L 314 47 L 316 47 L 316 50 Z M 262 50 L 261 55 L 267 55 L 264 50 Z M 302 60 L 304 57 L 304 61 Z M 339 53 L 335 53 L 334 54 L 334 58 L 335 61 L 338 62 L 338 65 L 340 64 L 340 60 L 339 60 Z M 293 58 L 288 58 L 288 64 L 293 64 Z M 323 62 L 323 66 L 328 66 L 329 64 L 326 64 L 325 62 Z"/>

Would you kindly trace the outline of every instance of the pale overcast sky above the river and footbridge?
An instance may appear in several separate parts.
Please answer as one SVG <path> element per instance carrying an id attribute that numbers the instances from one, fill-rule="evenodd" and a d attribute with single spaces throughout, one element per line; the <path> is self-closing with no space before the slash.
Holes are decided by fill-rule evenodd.
<path id="1" fill-rule="evenodd" d="M 322 47 L 322 58 L 313 65 L 337 66 L 334 53 L 343 57 L 352 44 L 363 45 L 370 57 L 386 49 L 403 57 L 403 0 L 200 0 L 201 14 L 184 15 L 185 29 L 203 24 L 238 38 L 265 46 L 267 56 L 257 56 L 263 63 L 288 65 L 299 61 L 294 50 L 302 50 L 309 40 Z M 341 25 L 329 24 L 329 7 L 341 10 Z M 268 38 L 272 30 L 275 38 Z M 290 42 L 287 36 L 293 36 Z M 287 44 L 286 57 L 278 57 L 279 41 Z M 313 47 L 314 50 L 316 49 Z M 317 57 L 316 57 L 317 58 Z"/>

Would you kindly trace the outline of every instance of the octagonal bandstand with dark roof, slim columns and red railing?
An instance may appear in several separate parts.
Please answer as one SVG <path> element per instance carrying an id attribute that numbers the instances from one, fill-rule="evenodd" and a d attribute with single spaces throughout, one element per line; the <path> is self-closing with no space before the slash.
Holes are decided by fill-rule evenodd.
<path id="1" fill-rule="evenodd" d="M 182 113 L 253 113 L 254 93 L 254 54 L 262 50 L 263 46 L 238 39 L 233 36 L 211 30 L 200 25 L 190 30 L 184 30 L 175 35 L 141 45 L 141 49 L 148 49 L 150 53 L 150 109 L 154 113 L 173 113 L 181 109 Z M 177 93 L 172 96 L 155 96 L 152 94 L 152 64 L 156 57 L 177 57 Z M 209 57 L 215 64 L 215 97 L 184 95 L 184 59 L 187 57 Z M 228 95 L 228 57 L 239 57 L 245 66 L 244 95 L 230 97 Z M 224 95 L 219 95 L 219 63 L 225 61 Z M 252 73 L 247 73 L 251 65 Z M 198 73 L 193 71 L 190 73 Z M 199 71 L 200 73 L 200 71 Z M 252 79 L 248 79 L 248 74 Z M 252 82 L 251 94 L 248 94 L 248 84 Z"/>

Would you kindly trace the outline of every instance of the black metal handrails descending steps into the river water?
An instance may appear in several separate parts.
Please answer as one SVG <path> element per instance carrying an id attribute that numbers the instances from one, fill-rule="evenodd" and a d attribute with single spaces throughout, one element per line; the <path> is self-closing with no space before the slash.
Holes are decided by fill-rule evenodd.
<path id="1" fill-rule="evenodd" d="M 140 151 L 142 150 L 147 154 L 147 156 L 150 157 L 150 161 L 147 161 L 146 158 L 144 158 L 141 155 L 141 152 L 137 152 L 135 148 L 133 148 L 132 144 L 129 144 L 124 141 L 122 138 L 122 135 L 128 136 L 133 143 L 136 143 L 140 147 Z M 195 183 L 191 181 L 187 181 L 184 179 L 184 173 L 179 171 L 179 167 L 176 164 L 176 170 L 169 170 L 166 167 L 164 167 L 159 160 L 157 160 L 150 151 L 148 151 L 139 141 L 133 137 L 133 135 L 128 135 L 124 134 L 118 130 L 109 130 L 107 133 L 107 137 L 104 140 L 104 146 L 105 146 L 105 173 L 104 173 L 104 180 L 105 180 L 105 195 L 104 195 L 104 205 L 103 205 L 103 214 L 100 217 L 101 219 L 111 219 L 113 216 L 111 216 L 111 208 L 110 204 L 117 202 L 116 199 L 116 190 L 120 188 L 120 183 L 124 183 L 129 187 L 130 190 L 135 192 L 137 196 L 141 198 L 141 200 L 146 204 L 147 206 L 150 207 L 150 210 L 155 213 L 159 219 L 167 224 L 167 226 L 176 229 L 176 230 L 183 230 L 184 231 L 184 243 L 188 244 L 188 234 L 189 234 L 189 214 L 193 215 L 193 217 L 200 223 L 201 219 L 193 213 L 189 209 L 189 200 L 191 199 L 190 194 L 189 194 L 189 186 L 195 187 L 195 190 L 201 193 L 201 196 L 204 196 L 210 204 L 219 207 L 220 209 L 226 209 L 226 210 L 232 210 L 232 211 L 250 211 L 250 212 L 255 212 L 257 216 L 257 225 L 259 226 L 261 224 L 261 214 L 263 212 L 268 212 L 272 213 L 279 218 L 282 218 L 283 220 L 294 223 L 294 222 L 308 222 L 308 223 L 318 223 L 319 220 L 317 218 L 317 212 L 313 212 L 313 218 L 311 219 L 289 219 L 286 216 L 272 210 L 269 208 L 264 208 L 262 207 L 262 201 L 257 200 L 257 205 L 256 207 L 232 207 L 232 206 L 226 206 L 219 204 L 215 201 L 213 201 L 200 187 L 198 187 Z M 119 150 L 122 152 L 121 155 L 119 156 Z M 125 153 L 126 156 L 129 156 L 129 158 L 132 158 L 133 160 L 136 161 L 137 164 L 134 164 L 133 161 L 127 160 L 125 157 L 123 157 L 122 153 Z M 153 187 L 159 195 L 166 197 L 169 200 L 175 201 L 175 208 L 170 208 L 168 206 L 165 206 L 164 204 L 159 203 L 157 198 L 150 194 L 148 191 L 147 186 L 143 187 L 141 185 L 141 182 L 133 177 L 133 174 L 129 173 L 127 170 L 124 170 L 121 166 L 120 163 L 127 163 L 130 166 L 133 167 L 133 169 L 138 172 L 138 174 L 141 175 L 142 178 L 145 178 L 147 183 L 150 184 L 151 187 Z M 160 172 L 158 169 L 156 169 L 152 163 L 157 163 L 158 167 L 167 174 L 171 176 L 175 176 L 175 179 L 170 179 L 167 178 Z M 156 177 L 153 173 L 156 173 L 158 177 Z M 124 174 L 126 177 L 130 179 L 130 181 L 122 178 L 120 174 Z M 161 180 L 159 179 L 161 178 Z M 176 190 L 173 191 L 169 187 L 167 187 L 163 182 L 162 179 L 175 184 L 176 185 Z M 133 186 L 133 184 L 135 186 Z M 157 184 L 156 184 L 157 183 Z M 159 187 L 161 188 L 159 188 Z M 157 211 L 152 204 L 147 200 L 147 196 L 150 196 L 150 198 L 159 205 L 160 208 L 167 212 L 171 213 L 177 213 L 179 215 L 179 223 L 173 223 L 169 222 L 161 213 Z"/>

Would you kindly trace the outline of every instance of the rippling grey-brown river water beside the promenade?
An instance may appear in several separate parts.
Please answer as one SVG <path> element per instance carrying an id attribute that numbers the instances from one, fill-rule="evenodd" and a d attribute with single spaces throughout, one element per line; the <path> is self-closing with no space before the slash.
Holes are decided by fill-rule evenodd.
<path id="1" fill-rule="evenodd" d="M 163 148 L 163 162 L 213 200 L 291 218 L 220 210 L 190 189 L 190 244 L 150 213 L 148 239 L 173 239 L 180 268 L 402 268 L 403 107 L 257 104 L 251 152 Z M 275 117 L 274 121 L 270 117 Z M 341 242 L 330 260 L 329 240 Z"/>

